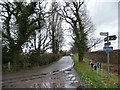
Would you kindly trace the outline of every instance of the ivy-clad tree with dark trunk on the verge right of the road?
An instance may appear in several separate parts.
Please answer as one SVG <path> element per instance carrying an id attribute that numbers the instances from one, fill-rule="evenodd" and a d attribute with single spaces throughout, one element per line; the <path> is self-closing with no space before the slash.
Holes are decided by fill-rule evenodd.
<path id="1" fill-rule="evenodd" d="M 79 61 L 83 60 L 84 51 L 86 48 L 86 36 L 84 18 L 86 13 L 83 13 L 82 9 L 84 6 L 84 2 L 65 2 L 65 6 L 63 6 L 62 16 L 69 23 L 73 29 L 73 33 L 75 37 L 73 38 L 75 41 L 75 45 L 77 46 Z"/>

